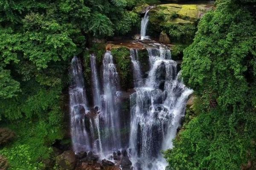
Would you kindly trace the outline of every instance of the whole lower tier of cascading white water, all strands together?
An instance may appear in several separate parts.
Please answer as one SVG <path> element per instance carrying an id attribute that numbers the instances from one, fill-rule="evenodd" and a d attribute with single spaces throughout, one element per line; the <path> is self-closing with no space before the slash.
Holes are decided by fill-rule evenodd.
<path id="1" fill-rule="evenodd" d="M 136 49 L 130 50 L 135 93 L 130 96 L 131 122 L 129 156 L 134 170 L 163 170 L 166 161 L 160 150 L 172 148 L 177 128 L 184 117 L 186 101 L 192 90 L 177 74 L 177 63 L 166 46 L 154 43 L 147 48 L 150 69 L 142 73 Z M 70 126 L 76 153 L 94 151 L 106 157 L 121 149 L 119 78 L 111 51 L 103 57 L 102 88 L 96 58 L 90 55 L 93 109 L 87 106 L 81 62 L 71 62 Z M 143 74 L 147 78 L 143 79 Z M 102 93 L 102 94 L 101 94 Z M 125 155 L 125 154 L 124 154 Z M 109 157 L 111 158 L 111 157 Z M 113 159 L 113 156 L 112 158 Z M 126 159 L 127 160 L 127 159 Z"/>

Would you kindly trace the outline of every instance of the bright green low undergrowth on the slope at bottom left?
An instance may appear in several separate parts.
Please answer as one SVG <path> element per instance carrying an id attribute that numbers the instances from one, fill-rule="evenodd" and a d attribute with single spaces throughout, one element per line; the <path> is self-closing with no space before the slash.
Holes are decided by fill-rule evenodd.
<path id="1" fill-rule="evenodd" d="M 60 117 L 59 117 L 60 116 Z M 55 139 L 61 139 L 63 133 L 59 123 L 62 122 L 59 109 L 49 113 L 48 120 L 31 122 L 23 120 L 17 125 L 9 125 L 15 130 L 19 139 L 0 150 L 10 164 L 10 170 L 41 170 L 43 160 L 52 154 L 52 144 Z M 59 128 L 59 129 L 56 129 Z"/>

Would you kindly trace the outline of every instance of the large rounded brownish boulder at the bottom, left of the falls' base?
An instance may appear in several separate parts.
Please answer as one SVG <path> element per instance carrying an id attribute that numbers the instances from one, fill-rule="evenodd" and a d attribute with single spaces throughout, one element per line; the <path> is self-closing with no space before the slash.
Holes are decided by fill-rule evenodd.
<path id="1" fill-rule="evenodd" d="M 56 157 L 56 164 L 61 170 L 73 170 L 76 164 L 76 156 L 72 150 L 64 151 Z"/>

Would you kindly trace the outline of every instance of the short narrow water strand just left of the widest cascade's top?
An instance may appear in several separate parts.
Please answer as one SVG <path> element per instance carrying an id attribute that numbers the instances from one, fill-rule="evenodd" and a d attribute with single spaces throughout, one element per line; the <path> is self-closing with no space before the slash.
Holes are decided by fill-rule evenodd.
<path id="1" fill-rule="evenodd" d="M 138 60 L 138 50 L 130 49 L 130 57 L 133 65 L 134 87 L 140 87 L 143 85 L 143 79 L 140 69 L 140 62 Z"/>

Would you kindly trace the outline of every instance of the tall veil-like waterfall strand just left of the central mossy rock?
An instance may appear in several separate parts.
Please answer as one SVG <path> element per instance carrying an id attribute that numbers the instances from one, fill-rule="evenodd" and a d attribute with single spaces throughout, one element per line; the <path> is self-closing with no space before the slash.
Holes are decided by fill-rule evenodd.
<path id="1" fill-rule="evenodd" d="M 104 150 L 110 151 L 119 149 L 120 132 L 119 132 L 119 105 L 118 105 L 118 89 L 119 78 L 116 66 L 113 64 L 113 56 L 111 51 L 106 51 L 103 57 L 103 90 L 102 96 L 102 113 L 104 139 L 102 139 L 102 147 Z"/>

